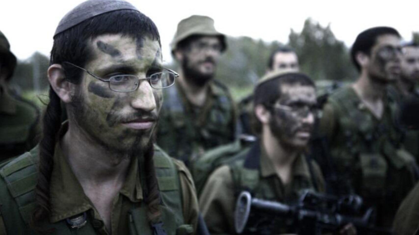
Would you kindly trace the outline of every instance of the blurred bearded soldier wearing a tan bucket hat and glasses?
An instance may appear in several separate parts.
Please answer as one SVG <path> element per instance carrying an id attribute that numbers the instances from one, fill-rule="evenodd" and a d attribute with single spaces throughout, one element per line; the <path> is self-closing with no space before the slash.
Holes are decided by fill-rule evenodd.
<path id="1" fill-rule="evenodd" d="M 225 35 L 207 16 L 181 20 L 171 43 L 181 66 L 175 87 L 164 91 L 157 142 L 187 166 L 204 150 L 235 139 L 235 110 L 228 89 L 214 80 Z"/>

